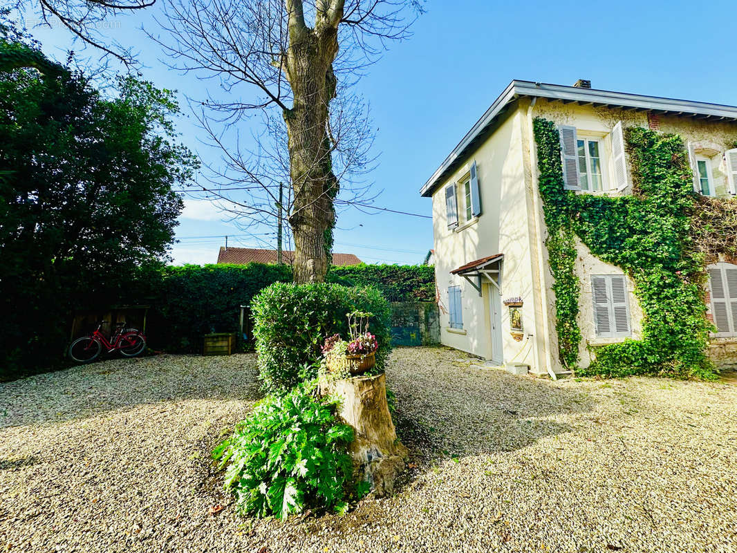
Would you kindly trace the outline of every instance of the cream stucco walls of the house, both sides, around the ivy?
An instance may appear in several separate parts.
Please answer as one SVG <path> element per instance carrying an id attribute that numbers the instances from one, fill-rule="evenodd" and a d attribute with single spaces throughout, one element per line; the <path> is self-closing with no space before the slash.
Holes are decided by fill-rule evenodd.
<path id="1" fill-rule="evenodd" d="M 543 245 L 547 229 L 542 222 L 542 201 L 537 181 L 537 148 L 531 136 L 531 119 L 542 116 L 558 125 L 573 125 L 580 136 L 604 139 L 604 178 L 611 183 L 612 152 L 609 133 L 617 122 L 624 127 L 648 127 L 645 112 L 581 106 L 522 99 L 511 109 L 503 122 L 464 164 L 447 178 L 433 193 L 433 232 L 435 243 L 436 282 L 440 293 L 441 342 L 450 347 L 490 359 L 491 325 L 489 323 L 489 285 L 483 286 L 483 296 L 462 277 L 450 274 L 454 268 L 492 254 L 504 254 L 501 299 L 521 296 L 524 300 L 523 322 L 525 338 L 514 341 L 510 334 L 509 310 L 501 306 L 503 359 L 529 364 L 537 374 L 546 369 L 562 372 L 560 364 L 555 317 L 553 278 L 548 264 L 548 251 Z M 692 142 L 697 153 L 705 156 L 723 152 L 737 145 L 737 123 L 705 122 L 691 117 L 660 116 L 660 131 L 679 133 L 685 142 Z M 715 156 L 718 158 L 719 156 Z M 469 171 L 472 161 L 478 167 L 482 215 L 458 229 L 447 229 L 445 187 L 458 182 Z M 716 195 L 727 195 L 726 179 L 719 164 L 712 164 Z M 631 167 L 629 181 L 632 182 Z M 590 193 L 590 192 L 581 192 Z M 623 192 L 632 193 L 631 186 Z M 460 210 L 459 206 L 459 210 Z M 581 281 L 579 298 L 579 326 L 581 327 L 580 363 L 590 364 L 587 345 L 606 343 L 596 338 L 591 298 L 592 274 L 623 274 L 621 268 L 602 262 L 582 243 L 577 242 L 579 263 L 576 271 Z M 464 329 L 450 329 L 447 312 L 447 289 L 460 285 Z M 642 333 L 643 312 L 634 294 L 634 285 L 627 278 L 631 313 L 632 338 Z M 621 341 L 615 338 L 609 341 Z M 727 349 L 730 352 L 727 352 Z M 731 347 L 720 344 L 715 355 L 731 355 Z"/>

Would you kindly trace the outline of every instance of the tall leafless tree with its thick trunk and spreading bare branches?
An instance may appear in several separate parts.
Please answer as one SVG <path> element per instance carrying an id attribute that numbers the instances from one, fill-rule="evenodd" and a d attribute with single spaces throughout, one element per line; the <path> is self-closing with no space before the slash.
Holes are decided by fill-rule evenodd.
<path id="1" fill-rule="evenodd" d="M 231 190 L 242 184 L 251 193 L 244 202 L 216 195 L 231 202 L 228 209 L 234 215 L 276 220 L 273 191 L 288 179 L 295 282 L 324 280 L 340 178 L 360 173 L 370 163 L 367 145 L 373 135 L 367 114 L 346 89 L 387 41 L 408 36 L 411 18 L 406 12 L 420 13 L 419 1 L 164 4 L 158 23 L 173 40 L 153 38 L 172 56 L 172 66 L 214 79 L 228 95 L 227 101 L 209 97 L 199 111 L 210 141 L 225 153 L 225 167 L 213 180 Z M 253 110 L 263 114 L 259 151 L 228 147 L 223 128 L 237 126 Z M 275 116 L 279 112 L 281 121 Z M 353 192 L 365 194 L 366 189 Z"/>

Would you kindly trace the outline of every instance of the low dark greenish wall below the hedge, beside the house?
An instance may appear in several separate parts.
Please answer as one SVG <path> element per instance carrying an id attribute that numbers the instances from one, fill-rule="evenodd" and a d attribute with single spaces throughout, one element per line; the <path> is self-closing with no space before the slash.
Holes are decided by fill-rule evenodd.
<path id="1" fill-rule="evenodd" d="M 438 305 L 435 302 L 391 302 L 391 341 L 394 346 L 439 344 Z"/>

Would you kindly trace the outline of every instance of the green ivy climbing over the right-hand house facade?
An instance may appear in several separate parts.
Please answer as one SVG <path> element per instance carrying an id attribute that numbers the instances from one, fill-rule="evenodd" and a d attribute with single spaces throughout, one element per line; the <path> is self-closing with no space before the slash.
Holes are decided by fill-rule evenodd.
<path id="1" fill-rule="evenodd" d="M 555 125 L 537 118 L 534 135 L 562 363 L 571 367 L 579 360 L 577 236 L 596 257 L 632 277 L 644 311 L 642 339 L 592 348 L 595 361 L 577 373 L 715 378 L 706 355 L 713 327 L 705 318 L 705 254 L 697 237 L 719 229 L 721 218 L 692 223 L 705 216 L 696 215 L 699 199 L 680 136 L 627 129 L 633 194 L 609 197 L 564 190 Z M 719 209 L 710 212 L 718 214 Z M 726 212 L 734 213 L 731 207 Z"/>

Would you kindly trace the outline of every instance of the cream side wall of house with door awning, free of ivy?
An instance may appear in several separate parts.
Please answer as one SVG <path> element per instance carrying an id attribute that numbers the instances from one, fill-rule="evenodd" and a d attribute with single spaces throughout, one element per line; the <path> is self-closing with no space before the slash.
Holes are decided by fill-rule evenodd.
<path id="1" fill-rule="evenodd" d="M 441 342 L 484 359 L 492 358 L 490 285 L 483 296 L 463 277 L 450 271 L 467 262 L 492 254 L 504 254 L 501 299 L 520 296 L 524 300 L 525 333 L 533 332 L 533 282 L 531 278 L 528 206 L 522 147 L 524 114 L 511 114 L 474 155 L 433 193 L 435 274 L 441 302 Z M 445 188 L 458 182 L 476 161 L 482 214 L 455 230 L 447 228 Z M 461 286 L 464 329 L 449 327 L 447 313 L 449 286 Z M 509 327 L 509 309 L 500 306 L 503 360 L 533 364 L 528 339 L 518 342 Z"/>

